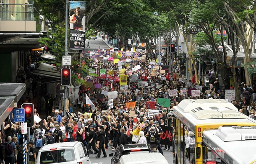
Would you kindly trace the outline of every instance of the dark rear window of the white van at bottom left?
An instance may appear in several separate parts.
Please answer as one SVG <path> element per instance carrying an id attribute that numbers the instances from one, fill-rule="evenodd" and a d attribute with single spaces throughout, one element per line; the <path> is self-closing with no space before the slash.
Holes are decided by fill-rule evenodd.
<path id="1" fill-rule="evenodd" d="M 40 154 L 40 164 L 54 164 L 59 162 L 74 161 L 75 153 L 73 149 L 60 149 L 42 151 Z"/>

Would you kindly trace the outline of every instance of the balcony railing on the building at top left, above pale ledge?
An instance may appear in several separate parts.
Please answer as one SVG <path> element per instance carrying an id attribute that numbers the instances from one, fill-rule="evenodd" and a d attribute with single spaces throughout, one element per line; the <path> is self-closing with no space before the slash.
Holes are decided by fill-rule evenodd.
<path id="1" fill-rule="evenodd" d="M 34 20 L 33 4 L 0 3 L 0 20 Z"/>

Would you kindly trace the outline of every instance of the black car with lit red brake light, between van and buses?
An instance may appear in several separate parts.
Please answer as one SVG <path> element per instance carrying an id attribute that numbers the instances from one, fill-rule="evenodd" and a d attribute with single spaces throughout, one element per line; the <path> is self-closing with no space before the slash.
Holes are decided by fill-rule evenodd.
<path id="1" fill-rule="evenodd" d="M 109 156 L 112 156 L 111 164 L 117 164 L 118 160 L 123 155 L 127 154 L 136 154 L 136 153 L 149 153 L 152 152 L 148 144 L 128 144 L 128 145 L 120 145 L 114 153 L 109 154 Z"/>

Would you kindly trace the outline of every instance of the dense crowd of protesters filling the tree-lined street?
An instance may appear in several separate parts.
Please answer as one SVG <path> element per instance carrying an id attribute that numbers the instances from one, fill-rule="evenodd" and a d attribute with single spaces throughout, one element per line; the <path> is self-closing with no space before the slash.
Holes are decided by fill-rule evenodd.
<path id="1" fill-rule="evenodd" d="M 143 54 L 140 54 L 142 56 Z M 29 156 L 31 162 L 36 162 L 36 154 L 45 144 L 53 144 L 58 142 L 81 141 L 87 147 L 88 154 L 97 154 L 96 158 L 107 157 L 105 149 L 115 151 L 120 144 L 149 144 L 153 150 L 158 150 L 163 154 L 164 150 L 170 151 L 170 143 L 162 145 L 161 135 L 164 128 L 168 125 L 168 118 L 171 118 L 174 106 L 184 99 L 219 99 L 225 98 L 225 89 L 234 89 L 232 86 L 219 86 L 219 80 L 214 76 L 214 71 L 209 71 L 209 84 L 206 86 L 202 78 L 198 82 L 192 78 L 191 80 L 184 78 L 176 78 L 180 76 L 182 70 L 179 69 L 177 60 L 173 62 L 173 70 L 165 69 L 157 64 L 154 56 L 146 56 L 144 60 L 138 60 L 133 56 L 128 56 L 131 60 L 125 64 L 119 65 L 111 60 L 97 60 L 91 62 L 89 67 L 95 70 L 99 77 L 84 77 L 87 82 L 92 82 L 93 87 L 80 86 L 78 90 L 78 98 L 75 105 L 69 104 L 69 109 L 65 112 L 62 109 L 55 109 L 54 105 L 60 100 L 55 99 L 52 94 L 42 97 L 44 100 L 40 108 L 45 110 L 47 118 L 41 123 L 35 123 L 31 128 L 31 141 L 28 146 L 31 148 Z M 136 66 L 140 66 L 139 69 Z M 120 69 L 121 66 L 121 69 Z M 157 67 L 157 69 L 156 69 Z M 182 66 L 183 67 L 183 66 Z M 33 68 L 32 68 L 33 69 Z M 103 74 L 100 70 L 105 69 Z M 153 70 L 155 69 L 155 70 Z M 19 77 L 24 77 L 23 67 L 18 70 Z M 110 74 L 110 72 L 112 72 Z M 154 74 L 153 74 L 154 73 Z M 128 89 L 125 92 L 120 91 L 121 74 L 127 75 Z M 132 75 L 137 74 L 136 80 L 132 80 Z M 102 75 L 105 77 L 101 78 Z M 111 75 L 109 78 L 107 75 Z M 174 75 L 174 76 L 173 76 Z M 115 78 L 117 77 L 117 78 Z M 140 82 L 145 85 L 139 86 Z M 28 80 L 26 82 L 30 84 Z M 95 87 L 95 84 L 100 84 Z M 155 87 L 147 87 L 154 86 Z M 23 103 L 29 102 L 29 93 L 31 87 L 26 90 L 26 97 Z M 32 87 L 33 88 L 33 87 Z M 184 90 L 185 88 L 185 90 Z M 177 95 L 170 95 L 170 90 L 176 90 Z M 181 92 L 181 90 L 185 92 Z M 193 90 L 200 90 L 200 95 L 193 96 Z M 255 100 L 256 86 L 239 85 L 241 102 L 235 100 L 232 103 L 238 108 L 238 111 L 252 118 L 255 116 Z M 118 92 L 116 98 L 112 99 L 106 92 Z M 141 98 L 137 100 L 137 97 Z M 34 94 L 33 94 L 34 96 Z M 170 106 L 163 107 L 157 104 L 158 98 L 170 100 Z M 27 101 L 26 101 L 27 100 Z M 252 100 L 252 101 L 251 101 Z M 135 102 L 135 106 L 127 108 L 127 103 Z M 146 105 L 147 102 L 155 102 L 152 108 Z M 59 104 L 59 103 L 57 103 Z M 73 107 L 76 107 L 76 110 Z M 41 111 L 42 111 L 41 109 Z M 149 115 L 149 109 L 158 110 L 158 115 Z M 134 113 L 134 115 L 130 115 Z M 35 115 L 39 117 L 37 109 Z M 10 117 L 8 121 L 3 123 L 4 131 L 1 132 L 0 139 L 0 160 L 9 160 L 17 163 L 23 163 L 21 151 L 23 140 L 21 139 L 21 125 L 14 123 Z M 3 154 L 6 150 L 6 143 L 13 142 L 12 154 Z M 27 149 L 26 149 L 27 152 Z"/>

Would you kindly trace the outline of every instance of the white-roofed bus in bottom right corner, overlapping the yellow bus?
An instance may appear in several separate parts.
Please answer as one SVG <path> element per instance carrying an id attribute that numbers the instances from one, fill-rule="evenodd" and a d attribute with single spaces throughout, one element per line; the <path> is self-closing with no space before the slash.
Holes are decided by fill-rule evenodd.
<path id="1" fill-rule="evenodd" d="M 206 164 L 256 164 L 256 126 L 219 127 L 203 132 Z"/>

